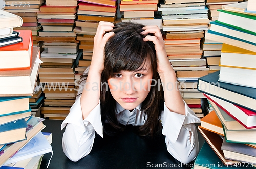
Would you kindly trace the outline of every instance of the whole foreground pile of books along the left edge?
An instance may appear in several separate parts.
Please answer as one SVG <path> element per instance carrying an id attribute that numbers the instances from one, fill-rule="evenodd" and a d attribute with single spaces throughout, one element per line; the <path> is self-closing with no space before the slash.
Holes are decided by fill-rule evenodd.
<path id="1" fill-rule="evenodd" d="M 26 160 L 23 163 L 31 168 L 38 167 L 42 155 L 52 152 L 41 133 L 44 119 L 32 116 L 29 106 L 41 63 L 40 51 L 39 47 L 33 47 L 31 30 L 13 31 L 22 25 L 19 16 L 0 12 L 0 166 Z M 42 149 L 31 148 L 34 140 Z"/>

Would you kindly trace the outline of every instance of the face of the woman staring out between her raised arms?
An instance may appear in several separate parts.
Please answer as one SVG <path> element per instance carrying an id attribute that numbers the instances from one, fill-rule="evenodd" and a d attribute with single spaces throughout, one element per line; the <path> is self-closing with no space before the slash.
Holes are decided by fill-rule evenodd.
<path id="1" fill-rule="evenodd" d="M 113 98 L 127 110 L 136 108 L 142 103 L 150 92 L 153 71 L 151 62 L 146 60 L 142 69 L 120 71 L 108 80 Z"/>

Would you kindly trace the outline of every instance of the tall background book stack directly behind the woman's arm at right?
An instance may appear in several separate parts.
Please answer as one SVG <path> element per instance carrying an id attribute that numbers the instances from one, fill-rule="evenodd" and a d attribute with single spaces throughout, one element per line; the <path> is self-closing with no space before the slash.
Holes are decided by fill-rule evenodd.
<path id="1" fill-rule="evenodd" d="M 163 20 L 165 49 L 181 83 L 185 102 L 202 118 L 207 114 L 207 102 L 196 89 L 197 79 L 207 75 L 209 68 L 200 49 L 201 38 L 208 29 L 208 9 L 204 1 L 160 1 L 158 7 Z M 202 103 L 201 103 L 202 102 Z M 203 110 L 202 110 L 203 109 Z"/>

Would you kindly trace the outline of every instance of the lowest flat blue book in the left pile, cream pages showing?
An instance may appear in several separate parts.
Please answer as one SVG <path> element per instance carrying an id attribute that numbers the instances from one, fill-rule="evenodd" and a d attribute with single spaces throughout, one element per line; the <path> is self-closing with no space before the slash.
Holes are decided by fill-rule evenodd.
<path id="1" fill-rule="evenodd" d="M 26 139 L 27 123 L 25 119 L 13 121 L 0 126 L 0 145 Z"/>

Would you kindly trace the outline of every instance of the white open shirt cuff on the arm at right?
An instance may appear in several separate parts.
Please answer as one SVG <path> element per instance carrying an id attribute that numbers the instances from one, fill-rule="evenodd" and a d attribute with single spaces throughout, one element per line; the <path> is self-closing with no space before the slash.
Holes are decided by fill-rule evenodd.
<path id="1" fill-rule="evenodd" d="M 170 111 L 169 108 L 164 103 L 164 111 L 161 115 L 161 122 L 163 125 L 162 134 L 165 135 L 172 143 L 175 143 L 176 140 L 178 139 L 182 127 L 186 128 L 186 124 L 200 122 L 200 119 L 187 106 L 185 101 L 184 104 L 185 115 L 181 115 L 176 112 Z"/>

